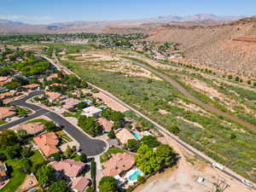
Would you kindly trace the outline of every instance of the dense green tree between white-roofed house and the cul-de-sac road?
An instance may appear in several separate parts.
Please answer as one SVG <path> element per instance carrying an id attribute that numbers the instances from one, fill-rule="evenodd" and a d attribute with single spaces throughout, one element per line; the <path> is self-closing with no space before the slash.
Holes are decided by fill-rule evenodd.
<path id="1" fill-rule="evenodd" d="M 78 124 L 86 133 L 92 137 L 98 136 L 102 131 L 98 122 L 94 118 L 82 115 Z"/>

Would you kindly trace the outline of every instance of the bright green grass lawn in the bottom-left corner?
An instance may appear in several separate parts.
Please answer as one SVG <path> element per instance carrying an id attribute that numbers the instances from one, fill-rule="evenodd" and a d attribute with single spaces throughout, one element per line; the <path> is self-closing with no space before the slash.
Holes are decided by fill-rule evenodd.
<path id="1" fill-rule="evenodd" d="M 12 167 L 13 172 L 11 172 L 9 183 L 3 189 L 0 189 L 0 192 L 15 192 L 24 182 L 26 174 L 20 172 L 20 167 L 22 166 L 21 160 L 7 160 L 6 164 Z"/>

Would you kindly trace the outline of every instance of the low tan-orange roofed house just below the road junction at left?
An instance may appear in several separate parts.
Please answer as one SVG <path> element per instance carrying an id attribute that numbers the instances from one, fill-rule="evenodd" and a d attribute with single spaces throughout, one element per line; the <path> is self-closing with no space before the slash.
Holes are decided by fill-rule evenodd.
<path id="1" fill-rule="evenodd" d="M 29 135 L 38 135 L 44 132 L 44 125 L 40 122 L 28 123 L 23 125 L 18 125 L 14 128 L 14 131 L 25 130 Z"/>

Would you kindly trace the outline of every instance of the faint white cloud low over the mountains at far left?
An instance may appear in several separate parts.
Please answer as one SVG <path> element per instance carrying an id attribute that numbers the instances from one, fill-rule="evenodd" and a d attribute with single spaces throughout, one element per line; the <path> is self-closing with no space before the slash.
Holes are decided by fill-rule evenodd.
<path id="1" fill-rule="evenodd" d="M 45 23 L 47 21 L 53 21 L 54 18 L 50 16 L 0 15 L 0 20 L 13 20 L 28 23 Z"/>

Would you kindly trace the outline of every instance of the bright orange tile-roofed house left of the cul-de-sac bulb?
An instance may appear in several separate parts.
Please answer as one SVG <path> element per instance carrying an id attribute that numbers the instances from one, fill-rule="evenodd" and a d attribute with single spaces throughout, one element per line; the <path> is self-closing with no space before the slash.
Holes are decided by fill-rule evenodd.
<path id="1" fill-rule="evenodd" d="M 59 143 L 58 137 L 55 135 L 55 132 L 48 132 L 44 135 L 34 137 L 34 143 L 38 145 L 38 148 L 44 153 L 46 157 L 49 157 L 52 154 L 60 152 L 60 149 L 57 148 Z"/>

